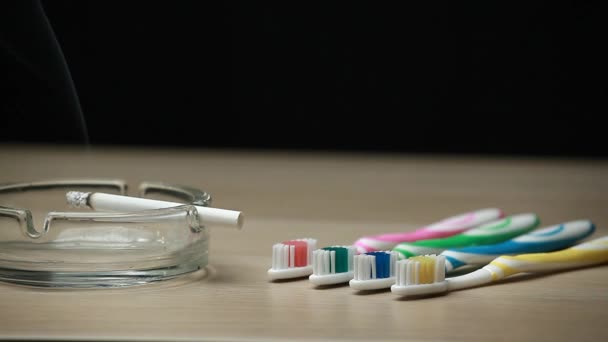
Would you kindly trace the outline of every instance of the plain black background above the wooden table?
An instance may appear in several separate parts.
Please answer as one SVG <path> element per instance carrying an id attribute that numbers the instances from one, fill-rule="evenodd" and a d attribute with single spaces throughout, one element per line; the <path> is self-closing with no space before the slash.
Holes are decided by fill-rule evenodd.
<path id="1" fill-rule="evenodd" d="M 606 157 L 600 6 L 4 2 L 2 141 Z"/>

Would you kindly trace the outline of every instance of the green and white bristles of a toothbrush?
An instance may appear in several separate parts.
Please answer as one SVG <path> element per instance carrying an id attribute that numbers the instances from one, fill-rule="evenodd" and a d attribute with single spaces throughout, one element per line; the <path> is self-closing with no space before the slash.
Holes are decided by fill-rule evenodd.
<path id="1" fill-rule="evenodd" d="M 351 271 L 354 254 L 353 246 L 317 249 L 312 254 L 312 272 L 315 275 L 327 275 Z"/>

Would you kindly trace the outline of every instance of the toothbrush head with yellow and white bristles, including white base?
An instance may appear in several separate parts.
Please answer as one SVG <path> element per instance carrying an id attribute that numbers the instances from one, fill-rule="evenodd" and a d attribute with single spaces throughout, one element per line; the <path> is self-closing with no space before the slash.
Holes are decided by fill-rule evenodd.
<path id="1" fill-rule="evenodd" d="M 395 267 L 396 282 L 391 292 L 400 296 L 418 296 L 447 292 L 445 256 L 424 255 L 399 260 Z"/>

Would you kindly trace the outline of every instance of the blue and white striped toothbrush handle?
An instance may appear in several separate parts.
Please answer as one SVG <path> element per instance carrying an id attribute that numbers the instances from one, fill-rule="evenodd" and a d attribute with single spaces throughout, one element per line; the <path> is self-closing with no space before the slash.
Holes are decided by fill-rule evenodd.
<path id="1" fill-rule="evenodd" d="M 448 249 L 441 255 L 445 256 L 445 271 L 449 273 L 467 265 L 485 265 L 500 255 L 564 249 L 591 235 L 594 230 L 591 221 L 570 221 L 494 245 Z"/>

